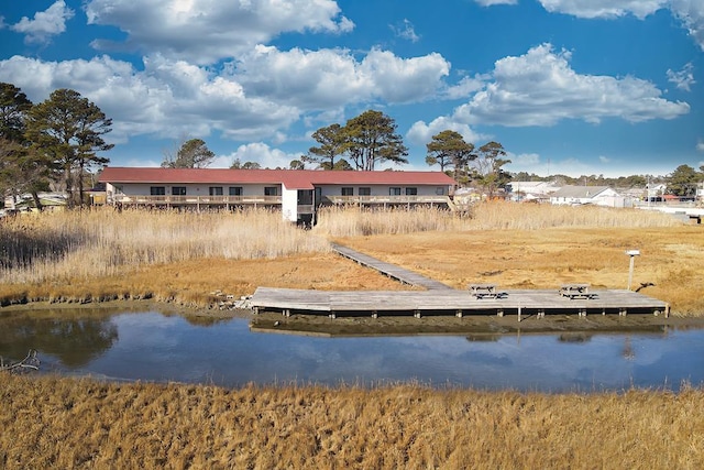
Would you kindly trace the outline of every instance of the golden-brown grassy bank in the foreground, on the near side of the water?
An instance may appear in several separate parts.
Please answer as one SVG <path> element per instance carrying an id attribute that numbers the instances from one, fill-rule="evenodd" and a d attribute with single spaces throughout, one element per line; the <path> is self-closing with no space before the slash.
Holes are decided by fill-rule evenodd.
<path id="1" fill-rule="evenodd" d="M 704 466 L 702 390 L 224 390 L 3 375 L 0 403 L 7 469 Z"/>

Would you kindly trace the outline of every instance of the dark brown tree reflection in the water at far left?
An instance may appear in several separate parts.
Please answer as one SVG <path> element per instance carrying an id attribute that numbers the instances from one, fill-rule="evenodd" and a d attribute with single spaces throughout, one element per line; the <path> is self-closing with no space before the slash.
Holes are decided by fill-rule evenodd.
<path id="1" fill-rule="evenodd" d="M 118 340 L 118 328 L 107 318 L 0 317 L 0 356 L 23 358 L 36 349 L 57 357 L 64 365 L 86 365 Z"/>

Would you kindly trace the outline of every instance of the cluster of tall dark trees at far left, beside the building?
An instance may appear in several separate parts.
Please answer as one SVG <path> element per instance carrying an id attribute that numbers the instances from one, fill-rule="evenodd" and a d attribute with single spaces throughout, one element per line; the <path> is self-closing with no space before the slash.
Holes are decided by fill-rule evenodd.
<path id="1" fill-rule="evenodd" d="M 40 192 L 52 186 L 67 194 L 67 205 L 84 203 L 85 176 L 109 159 L 103 135 L 112 120 L 72 89 L 57 89 L 33 103 L 12 84 L 0 83 L 0 189 L 31 194 L 41 209 Z"/>

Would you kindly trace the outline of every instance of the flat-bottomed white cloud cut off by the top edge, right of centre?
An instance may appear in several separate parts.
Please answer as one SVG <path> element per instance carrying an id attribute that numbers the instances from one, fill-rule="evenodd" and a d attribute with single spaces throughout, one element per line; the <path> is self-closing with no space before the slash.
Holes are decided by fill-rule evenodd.
<path id="1" fill-rule="evenodd" d="M 666 7 L 668 0 L 539 0 L 551 13 L 579 18 L 618 18 L 632 14 L 644 19 Z"/>

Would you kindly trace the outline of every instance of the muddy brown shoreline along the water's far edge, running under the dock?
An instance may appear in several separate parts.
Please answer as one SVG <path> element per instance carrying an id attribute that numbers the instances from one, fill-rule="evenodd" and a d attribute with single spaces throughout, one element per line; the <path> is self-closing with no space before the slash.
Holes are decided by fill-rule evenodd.
<path id="1" fill-rule="evenodd" d="M 484 340 L 494 336 L 522 334 L 622 334 L 622 332 L 663 332 L 670 328 L 704 328 L 704 317 L 691 317 L 671 313 L 663 315 L 631 314 L 625 317 L 617 314 L 594 314 L 587 317 L 553 314 L 537 318 L 525 316 L 521 321 L 515 315 L 498 317 L 495 315 L 454 316 L 340 316 L 331 319 L 323 315 L 292 315 L 285 317 L 277 313 L 254 314 L 251 309 L 219 309 L 217 307 L 193 307 L 154 299 L 106 300 L 90 303 L 50 303 L 28 302 L 0 308 L 4 313 L 45 311 L 50 316 L 64 315 L 69 310 L 95 310 L 96 314 L 140 313 L 155 310 L 165 315 L 179 315 L 211 320 L 241 318 L 250 320 L 253 332 L 273 332 L 322 337 L 342 336 L 418 336 L 418 335 L 470 335 Z"/>

